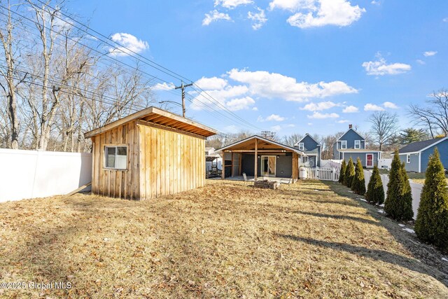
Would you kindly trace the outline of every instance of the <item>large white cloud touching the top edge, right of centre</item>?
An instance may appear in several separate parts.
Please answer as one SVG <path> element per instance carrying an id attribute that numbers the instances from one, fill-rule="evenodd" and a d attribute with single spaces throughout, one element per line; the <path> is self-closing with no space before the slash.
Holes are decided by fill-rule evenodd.
<path id="1" fill-rule="evenodd" d="M 274 8 L 293 12 L 287 22 L 299 28 L 348 26 L 365 13 L 365 8 L 351 6 L 346 0 L 273 0 L 269 3 L 269 9 Z"/>

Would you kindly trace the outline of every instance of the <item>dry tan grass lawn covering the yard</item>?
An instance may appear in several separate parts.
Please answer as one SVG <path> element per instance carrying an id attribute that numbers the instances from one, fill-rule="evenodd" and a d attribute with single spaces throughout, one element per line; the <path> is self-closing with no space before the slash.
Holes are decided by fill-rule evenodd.
<path id="1" fill-rule="evenodd" d="M 0 204 L 2 298 L 448 298 L 448 263 L 335 183 Z"/>

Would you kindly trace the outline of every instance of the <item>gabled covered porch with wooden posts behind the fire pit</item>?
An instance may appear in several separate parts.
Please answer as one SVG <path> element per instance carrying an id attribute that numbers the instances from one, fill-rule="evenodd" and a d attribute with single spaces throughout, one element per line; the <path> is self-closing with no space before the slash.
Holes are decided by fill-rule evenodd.
<path id="1" fill-rule="evenodd" d="M 222 179 L 236 179 L 246 174 L 254 181 L 279 179 L 295 182 L 299 177 L 299 158 L 304 155 L 297 148 L 276 141 L 253 136 L 220 149 L 223 158 Z"/>

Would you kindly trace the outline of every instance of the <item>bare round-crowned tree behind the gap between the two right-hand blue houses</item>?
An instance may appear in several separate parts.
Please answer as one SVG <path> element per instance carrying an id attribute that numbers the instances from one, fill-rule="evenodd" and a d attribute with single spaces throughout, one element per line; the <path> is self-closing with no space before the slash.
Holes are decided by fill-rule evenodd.
<path id="1" fill-rule="evenodd" d="M 395 113 L 387 111 L 378 111 L 370 115 L 368 121 L 372 123 L 370 132 L 372 140 L 378 145 L 379 151 L 382 151 L 386 144 L 398 130 L 398 117 Z"/>

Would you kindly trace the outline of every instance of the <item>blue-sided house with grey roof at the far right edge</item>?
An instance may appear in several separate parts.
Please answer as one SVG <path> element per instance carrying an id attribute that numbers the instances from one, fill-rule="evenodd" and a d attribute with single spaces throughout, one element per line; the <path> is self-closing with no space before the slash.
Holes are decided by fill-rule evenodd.
<path id="1" fill-rule="evenodd" d="M 425 141 L 412 142 L 400 148 L 400 160 L 405 162 L 407 172 L 426 172 L 429 155 L 434 153 L 437 147 L 440 160 L 444 167 L 448 167 L 448 137 L 436 138 Z"/>

